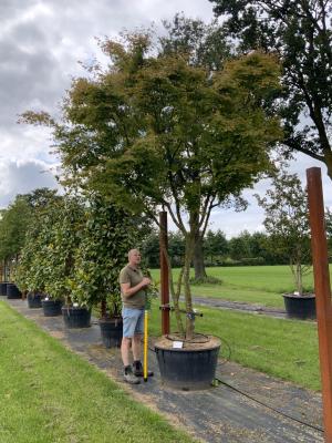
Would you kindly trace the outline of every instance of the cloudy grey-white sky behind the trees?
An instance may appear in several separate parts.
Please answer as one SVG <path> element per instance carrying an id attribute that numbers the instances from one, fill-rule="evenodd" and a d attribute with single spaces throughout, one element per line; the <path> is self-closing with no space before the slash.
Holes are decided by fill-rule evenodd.
<path id="1" fill-rule="evenodd" d="M 0 208 L 17 194 L 59 187 L 51 133 L 18 124 L 19 115 L 27 110 L 56 115 L 72 79 L 84 74 L 79 61 L 101 56 L 97 38 L 152 22 L 158 28 L 163 19 L 172 20 L 181 11 L 206 22 L 214 18 L 208 0 L 0 0 Z M 325 205 L 332 206 L 324 165 L 299 155 L 290 166 L 303 183 L 305 168 L 321 167 Z M 227 237 L 245 229 L 262 230 L 263 212 L 252 194 L 263 195 L 268 186 L 263 181 L 245 190 L 249 207 L 243 213 L 216 209 L 209 228 L 221 229 Z"/>

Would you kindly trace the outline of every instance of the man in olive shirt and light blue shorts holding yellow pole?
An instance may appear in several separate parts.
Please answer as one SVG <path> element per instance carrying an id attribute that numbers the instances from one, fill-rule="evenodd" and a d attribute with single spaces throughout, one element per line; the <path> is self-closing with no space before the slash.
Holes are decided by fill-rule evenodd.
<path id="1" fill-rule="evenodd" d="M 141 269 L 141 254 L 137 249 L 128 253 L 128 264 L 120 272 L 120 285 L 123 301 L 123 339 L 121 356 L 124 364 L 124 380 L 127 383 L 138 384 L 138 377 L 143 377 L 141 362 L 141 341 L 144 332 L 145 288 L 151 279 L 144 277 Z M 133 351 L 133 368 L 131 361 Z M 152 375 L 152 373 L 149 373 Z"/>

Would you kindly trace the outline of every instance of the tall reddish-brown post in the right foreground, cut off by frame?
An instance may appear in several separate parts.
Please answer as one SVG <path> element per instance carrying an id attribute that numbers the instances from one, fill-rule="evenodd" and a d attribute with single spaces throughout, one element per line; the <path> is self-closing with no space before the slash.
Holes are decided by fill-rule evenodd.
<path id="1" fill-rule="evenodd" d="M 307 169 L 311 248 L 322 379 L 323 422 L 332 443 L 332 308 L 321 169 Z"/>

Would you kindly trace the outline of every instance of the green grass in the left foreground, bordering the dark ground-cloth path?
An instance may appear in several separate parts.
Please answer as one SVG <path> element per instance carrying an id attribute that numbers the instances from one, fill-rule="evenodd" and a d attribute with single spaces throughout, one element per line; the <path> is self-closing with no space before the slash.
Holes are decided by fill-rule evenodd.
<path id="1" fill-rule="evenodd" d="M 0 301 L 0 442 L 191 442 Z"/>

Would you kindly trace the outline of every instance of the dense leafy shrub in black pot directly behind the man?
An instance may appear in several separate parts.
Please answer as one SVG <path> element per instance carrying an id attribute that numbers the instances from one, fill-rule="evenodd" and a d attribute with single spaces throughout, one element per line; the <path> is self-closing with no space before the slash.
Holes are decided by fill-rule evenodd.
<path id="1" fill-rule="evenodd" d="M 90 196 L 85 227 L 75 255 L 72 295 L 81 305 L 96 309 L 106 348 L 121 346 L 118 275 L 126 264 L 127 251 L 138 237 L 138 217 L 125 213 L 110 199 Z"/>

